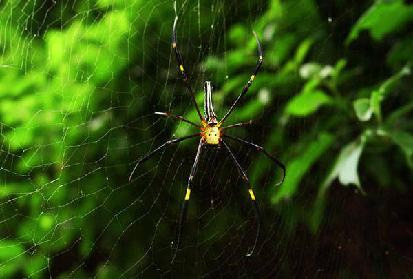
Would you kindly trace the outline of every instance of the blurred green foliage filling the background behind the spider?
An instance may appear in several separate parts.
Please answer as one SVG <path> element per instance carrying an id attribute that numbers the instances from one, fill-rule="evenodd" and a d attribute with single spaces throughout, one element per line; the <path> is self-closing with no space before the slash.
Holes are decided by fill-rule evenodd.
<path id="1" fill-rule="evenodd" d="M 279 170 L 248 152 L 253 187 L 268 186 L 266 194 L 258 190 L 270 212 L 266 226 L 275 214 L 285 231 L 304 226 L 317 236 L 338 183 L 363 198 L 381 188 L 412 192 L 410 3 L 178 1 L 176 8 L 198 103 L 211 77 L 221 116 L 255 65 L 252 28 L 262 40 L 264 65 L 228 123 L 252 119 L 258 128 L 231 133 L 286 164 L 285 183 L 273 187 Z M 170 265 L 165 243 L 174 236 L 195 143 L 138 169 L 138 189 L 127 177 L 136 158 L 193 129 L 155 110 L 197 120 L 171 53 L 173 3 L 3 1 L 0 10 L 1 276 L 114 278 L 148 269 L 157 277 L 152 269 Z M 167 207 L 153 206 L 162 201 Z M 216 222 L 225 230 L 220 218 L 235 209 L 223 210 Z M 161 216 L 169 223 L 158 223 Z M 221 249 L 230 239 L 211 235 L 209 228 L 199 238 Z M 284 260 L 278 268 L 291 276 L 294 260 Z"/>

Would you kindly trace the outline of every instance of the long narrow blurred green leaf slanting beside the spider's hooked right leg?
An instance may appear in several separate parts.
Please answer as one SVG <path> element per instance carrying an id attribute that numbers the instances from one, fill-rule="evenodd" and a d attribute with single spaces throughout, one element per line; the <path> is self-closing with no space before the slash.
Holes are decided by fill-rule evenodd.
<path id="1" fill-rule="evenodd" d="M 297 192 L 301 178 L 308 172 L 317 159 L 326 152 L 334 142 L 334 136 L 322 132 L 317 140 L 312 141 L 303 154 L 300 154 L 286 166 L 286 180 L 282 187 L 277 188 L 271 199 L 273 203 L 279 203 L 284 198 L 289 198 Z"/>

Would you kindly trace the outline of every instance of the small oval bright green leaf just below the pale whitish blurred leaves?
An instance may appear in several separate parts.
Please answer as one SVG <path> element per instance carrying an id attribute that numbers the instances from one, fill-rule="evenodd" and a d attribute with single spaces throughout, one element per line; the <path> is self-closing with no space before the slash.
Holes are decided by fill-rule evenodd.
<path id="1" fill-rule="evenodd" d="M 293 116 L 308 116 L 321 105 L 331 103 L 331 98 L 322 90 L 303 92 L 293 97 L 286 105 L 286 114 Z"/>

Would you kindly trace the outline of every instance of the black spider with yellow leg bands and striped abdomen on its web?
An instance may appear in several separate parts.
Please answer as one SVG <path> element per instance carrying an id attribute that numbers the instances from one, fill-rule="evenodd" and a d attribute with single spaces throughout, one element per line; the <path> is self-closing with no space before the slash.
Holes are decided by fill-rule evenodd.
<path id="1" fill-rule="evenodd" d="M 246 256 L 251 256 L 253 254 L 255 246 L 257 245 L 258 236 L 260 235 L 260 229 L 261 229 L 261 225 L 262 225 L 260 210 L 258 209 L 257 200 L 255 199 L 253 189 L 251 188 L 251 184 L 249 183 L 249 180 L 246 177 L 244 169 L 242 169 L 240 163 L 238 163 L 238 161 L 235 158 L 233 152 L 231 152 L 231 149 L 229 149 L 228 145 L 226 145 L 225 141 L 222 138 L 229 138 L 233 141 L 238 141 L 240 143 L 243 143 L 245 145 L 253 147 L 253 148 L 257 149 L 258 151 L 264 153 L 266 156 L 268 156 L 268 158 L 270 158 L 272 161 L 274 161 L 283 171 L 282 179 L 276 185 L 281 185 L 284 182 L 284 178 L 286 176 L 286 167 L 280 161 L 278 161 L 278 159 L 275 158 L 275 156 L 273 156 L 273 155 L 269 154 L 268 152 L 266 152 L 266 150 L 264 148 L 260 147 L 259 145 L 256 145 L 255 143 L 250 143 L 250 142 L 245 141 L 241 138 L 236 138 L 235 136 L 230 136 L 228 134 L 223 134 L 222 133 L 222 131 L 233 128 L 233 127 L 241 127 L 241 126 L 244 126 L 244 125 L 251 125 L 252 124 L 251 120 L 248 121 L 248 122 L 245 122 L 245 123 L 237 123 L 237 124 L 233 124 L 233 125 L 229 125 L 229 126 L 225 126 L 225 127 L 221 127 L 221 125 L 222 125 L 222 123 L 224 123 L 226 118 L 228 118 L 228 116 L 231 114 L 231 112 L 233 111 L 233 109 L 237 105 L 237 103 L 240 101 L 240 99 L 242 99 L 242 96 L 244 96 L 246 94 L 246 92 L 248 91 L 248 88 L 251 86 L 251 83 L 253 83 L 253 81 L 255 79 L 255 76 L 257 76 L 258 70 L 260 70 L 260 67 L 261 67 L 261 64 L 262 64 L 262 59 L 263 59 L 260 39 L 258 39 L 258 36 L 255 33 L 255 31 L 253 31 L 253 34 L 254 34 L 255 39 L 257 40 L 257 44 L 258 44 L 258 52 L 260 54 L 260 57 L 257 61 L 257 65 L 255 65 L 255 69 L 253 71 L 253 74 L 251 75 L 251 78 L 249 79 L 248 83 L 246 84 L 246 86 L 242 90 L 240 96 L 238 96 L 238 98 L 235 100 L 235 102 L 233 103 L 233 105 L 231 106 L 229 111 L 226 112 L 225 116 L 221 119 L 221 121 L 218 122 L 217 121 L 217 116 L 216 116 L 216 114 L 213 110 L 213 102 L 212 102 L 213 86 L 212 86 L 211 81 L 206 81 L 204 83 L 204 92 L 205 92 L 205 94 L 204 94 L 204 96 L 205 96 L 205 99 L 204 99 L 204 117 L 202 117 L 202 115 L 201 115 L 200 109 L 198 107 L 198 104 L 195 100 L 195 96 L 194 96 L 193 91 L 192 91 L 191 83 L 189 83 L 189 79 L 188 79 L 187 74 L 184 70 L 184 64 L 182 63 L 182 59 L 180 58 L 180 54 L 179 54 L 179 51 L 178 51 L 178 45 L 176 44 L 176 22 L 177 21 L 178 21 L 178 17 L 175 17 L 175 21 L 173 22 L 173 28 L 172 28 L 173 52 L 175 52 L 176 61 L 178 62 L 178 67 L 179 67 L 180 72 L 182 74 L 182 79 L 184 81 L 184 84 L 187 86 L 189 94 L 191 94 L 191 99 L 193 101 L 193 105 L 195 106 L 196 112 L 198 112 L 198 116 L 200 117 L 202 126 L 198 125 L 198 124 L 195 124 L 192 121 L 189 121 L 187 118 L 184 118 L 182 116 L 169 114 L 167 112 L 155 112 L 155 114 L 158 114 L 158 115 L 169 116 L 171 118 L 177 118 L 180 121 L 184 121 L 186 123 L 189 123 L 189 124 L 191 124 L 195 127 L 198 127 L 200 129 L 200 132 L 198 132 L 196 134 L 191 134 L 189 136 L 184 136 L 182 138 L 173 138 L 173 139 L 167 141 L 166 143 L 164 143 L 163 145 L 160 145 L 160 147 L 152 150 L 151 152 L 149 152 L 145 156 L 142 156 L 141 158 L 139 158 L 138 162 L 136 163 L 134 169 L 131 172 L 131 175 L 129 176 L 129 182 L 131 182 L 131 178 L 134 175 L 134 172 L 135 172 L 136 168 L 138 167 L 138 165 L 140 165 L 140 164 L 144 163 L 145 161 L 147 161 L 149 158 L 151 158 L 151 156 L 153 156 L 153 154 L 156 154 L 156 152 L 160 151 L 161 149 L 163 149 L 164 147 L 167 147 L 169 145 L 173 145 L 175 143 L 179 143 L 180 141 L 187 140 L 188 138 L 195 138 L 197 136 L 200 136 L 200 142 L 198 144 L 198 151 L 196 152 L 195 161 L 194 161 L 193 166 L 191 168 L 191 173 L 189 174 L 187 192 L 185 193 L 184 201 L 183 201 L 183 204 L 182 204 L 182 209 L 181 209 L 181 212 L 180 212 L 179 227 L 178 227 L 178 238 L 177 238 L 177 242 L 176 242 L 175 254 L 173 255 L 173 258 L 172 258 L 172 262 L 173 262 L 176 258 L 176 254 L 178 253 L 182 226 L 184 224 L 185 217 L 187 216 L 189 197 L 191 196 L 192 181 L 193 181 L 193 177 L 195 176 L 195 173 L 196 173 L 196 170 L 197 170 L 197 167 L 198 167 L 198 161 L 199 161 L 199 158 L 200 158 L 200 153 L 201 153 L 202 147 L 221 147 L 221 146 L 223 146 L 226 153 L 231 158 L 231 161 L 233 161 L 235 167 L 237 168 L 237 171 L 242 176 L 242 179 L 245 181 L 246 186 L 248 187 L 248 193 L 251 197 L 251 202 L 253 204 L 253 209 L 255 211 L 255 218 L 257 219 L 257 223 L 258 223 L 257 233 L 255 234 L 255 241 L 254 241 L 253 248 L 246 255 Z"/>

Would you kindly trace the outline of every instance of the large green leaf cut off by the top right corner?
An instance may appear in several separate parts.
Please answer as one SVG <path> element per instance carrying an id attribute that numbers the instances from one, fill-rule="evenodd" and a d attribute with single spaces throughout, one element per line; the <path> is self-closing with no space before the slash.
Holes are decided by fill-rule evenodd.
<path id="1" fill-rule="evenodd" d="M 346 44 L 357 39 L 361 30 L 369 30 L 371 36 L 380 40 L 385 35 L 403 28 L 413 20 L 413 6 L 403 0 L 379 0 L 360 17 L 346 39 Z"/>

